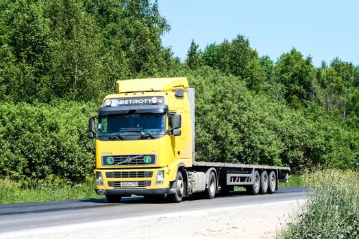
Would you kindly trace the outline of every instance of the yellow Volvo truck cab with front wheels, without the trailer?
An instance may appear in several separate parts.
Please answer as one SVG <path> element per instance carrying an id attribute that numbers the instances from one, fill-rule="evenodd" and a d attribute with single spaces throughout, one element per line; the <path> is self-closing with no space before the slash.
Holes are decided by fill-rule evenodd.
<path id="1" fill-rule="evenodd" d="M 182 198 L 185 183 L 174 182 L 180 167 L 192 166 L 194 145 L 188 94 L 194 90 L 186 78 L 116 82 L 116 94 L 106 96 L 89 122 L 97 193 L 108 201 L 176 192 Z"/>

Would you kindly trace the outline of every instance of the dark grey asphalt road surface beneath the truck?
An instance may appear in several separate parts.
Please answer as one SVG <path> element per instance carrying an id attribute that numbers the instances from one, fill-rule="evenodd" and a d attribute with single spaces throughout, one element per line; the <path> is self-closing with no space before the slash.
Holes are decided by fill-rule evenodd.
<path id="1" fill-rule="evenodd" d="M 106 199 L 77 199 L 49 203 L 23 203 L 0 205 L 1 234 L 12 231 L 77 225 L 111 219 L 127 219 L 136 216 L 190 212 L 232 206 L 260 205 L 282 201 L 301 200 L 306 197 L 306 188 L 280 188 L 273 195 L 248 196 L 245 192 L 209 199 L 188 198 L 182 203 L 147 201 L 143 197 L 123 198 L 121 203 L 107 203 Z"/>

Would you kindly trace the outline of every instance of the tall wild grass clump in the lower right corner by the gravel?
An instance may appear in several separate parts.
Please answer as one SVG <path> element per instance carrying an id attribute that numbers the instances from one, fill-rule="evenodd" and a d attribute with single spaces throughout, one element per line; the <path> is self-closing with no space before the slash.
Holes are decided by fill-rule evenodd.
<path id="1" fill-rule="evenodd" d="M 308 200 L 278 238 L 359 238 L 359 172 L 323 170 L 302 177 Z"/>

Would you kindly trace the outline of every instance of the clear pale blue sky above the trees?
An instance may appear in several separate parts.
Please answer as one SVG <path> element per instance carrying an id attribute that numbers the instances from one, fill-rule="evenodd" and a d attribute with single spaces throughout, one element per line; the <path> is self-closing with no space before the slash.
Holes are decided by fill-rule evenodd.
<path id="1" fill-rule="evenodd" d="M 158 0 L 171 25 L 164 46 L 182 60 L 190 41 L 207 44 L 249 38 L 259 55 L 271 59 L 295 47 L 315 66 L 338 56 L 359 65 L 359 1 Z"/>

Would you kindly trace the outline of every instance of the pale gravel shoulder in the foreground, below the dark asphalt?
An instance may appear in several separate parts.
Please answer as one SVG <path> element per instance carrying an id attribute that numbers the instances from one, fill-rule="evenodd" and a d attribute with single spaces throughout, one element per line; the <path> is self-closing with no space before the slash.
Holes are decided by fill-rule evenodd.
<path id="1" fill-rule="evenodd" d="M 0 238 L 275 238 L 304 200 L 42 227 Z"/>

